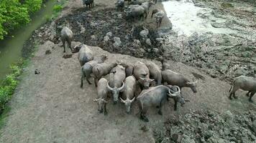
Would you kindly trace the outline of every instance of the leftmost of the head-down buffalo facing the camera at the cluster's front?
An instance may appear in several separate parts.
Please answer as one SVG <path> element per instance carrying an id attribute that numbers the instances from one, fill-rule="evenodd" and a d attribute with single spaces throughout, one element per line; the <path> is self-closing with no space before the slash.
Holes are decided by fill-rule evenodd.
<path id="1" fill-rule="evenodd" d="M 99 79 L 98 87 L 97 87 L 98 98 L 93 99 L 93 102 L 96 102 L 98 104 L 98 111 L 100 113 L 104 112 L 105 115 L 107 114 L 106 98 L 107 98 L 107 95 L 109 94 L 109 89 L 107 88 L 107 82 L 108 81 L 105 78 Z"/>

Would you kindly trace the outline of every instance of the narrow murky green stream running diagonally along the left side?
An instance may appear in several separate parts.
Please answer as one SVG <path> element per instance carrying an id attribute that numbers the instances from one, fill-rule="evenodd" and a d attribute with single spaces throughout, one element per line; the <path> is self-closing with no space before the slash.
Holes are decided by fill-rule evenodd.
<path id="1" fill-rule="evenodd" d="M 0 81 L 9 73 L 9 65 L 18 61 L 22 56 L 22 46 L 29 39 L 32 32 L 41 24 L 44 24 L 47 17 L 52 15 L 55 0 L 49 0 L 42 6 L 40 11 L 32 16 L 32 21 L 27 26 L 12 33 L 14 37 L 6 37 L 0 41 Z"/>

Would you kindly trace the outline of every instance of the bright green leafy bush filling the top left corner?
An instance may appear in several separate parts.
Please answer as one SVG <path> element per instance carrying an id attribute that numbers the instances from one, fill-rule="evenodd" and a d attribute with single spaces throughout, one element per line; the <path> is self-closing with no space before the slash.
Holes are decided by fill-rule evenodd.
<path id="1" fill-rule="evenodd" d="M 39 10 L 42 0 L 1 0 L 0 39 L 14 29 L 29 23 L 30 16 Z"/>

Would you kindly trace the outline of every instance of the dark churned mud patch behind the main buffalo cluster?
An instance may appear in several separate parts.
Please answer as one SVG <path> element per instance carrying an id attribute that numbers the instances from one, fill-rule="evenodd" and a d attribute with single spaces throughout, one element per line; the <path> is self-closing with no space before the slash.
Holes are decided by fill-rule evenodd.
<path id="1" fill-rule="evenodd" d="M 120 15 L 122 14 L 122 15 Z M 106 51 L 119 54 L 129 54 L 137 57 L 155 59 L 160 56 L 160 49 L 157 49 L 157 31 L 149 26 L 135 26 L 132 21 L 125 19 L 125 14 L 115 9 L 104 9 L 102 11 L 86 11 L 78 9 L 73 14 L 65 16 L 56 21 L 57 36 L 60 35 L 62 26 L 68 25 L 73 31 L 74 40 L 91 46 L 100 46 Z M 147 38 L 140 36 L 144 28 L 149 30 Z M 104 36 L 108 35 L 104 39 Z M 55 37 L 55 43 L 59 42 Z M 119 44 L 116 44 L 116 39 Z M 140 44 L 134 44 L 134 39 L 140 40 Z M 150 40 L 149 40 L 150 39 Z M 137 46 L 139 45 L 139 46 Z"/>

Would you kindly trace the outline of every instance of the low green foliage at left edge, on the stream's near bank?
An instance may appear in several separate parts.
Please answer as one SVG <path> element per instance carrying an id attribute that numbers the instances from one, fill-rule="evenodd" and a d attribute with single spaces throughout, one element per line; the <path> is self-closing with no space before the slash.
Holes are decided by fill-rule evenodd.
<path id="1" fill-rule="evenodd" d="M 4 105 L 9 102 L 19 83 L 18 77 L 22 74 L 23 63 L 23 61 L 19 61 L 18 64 L 12 65 L 11 74 L 8 74 L 0 85 L 0 110 L 4 109 Z"/>

